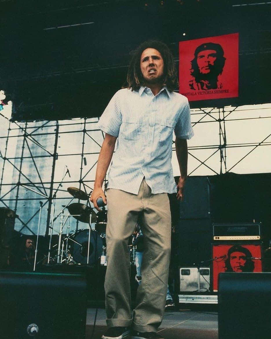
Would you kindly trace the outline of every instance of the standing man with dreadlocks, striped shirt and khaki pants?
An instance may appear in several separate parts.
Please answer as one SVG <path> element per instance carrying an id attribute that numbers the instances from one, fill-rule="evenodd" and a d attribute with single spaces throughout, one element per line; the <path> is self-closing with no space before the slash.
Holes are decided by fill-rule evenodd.
<path id="1" fill-rule="evenodd" d="M 186 97 L 178 87 L 174 60 L 159 41 L 142 43 L 128 69 L 127 87 L 110 100 L 98 128 L 105 132 L 94 190 L 90 200 L 98 209 L 108 205 L 105 277 L 108 330 L 103 339 L 161 339 L 170 259 L 171 216 L 167 193 L 176 192 L 172 135 L 181 176 L 177 198 L 187 178 L 187 141 L 193 136 Z M 113 151 L 116 151 L 112 159 Z M 105 194 L 103 180 L 111 162 Z M 128 239 L 141 217 L 145 248 L 142 283 L 131 311 Z"/>

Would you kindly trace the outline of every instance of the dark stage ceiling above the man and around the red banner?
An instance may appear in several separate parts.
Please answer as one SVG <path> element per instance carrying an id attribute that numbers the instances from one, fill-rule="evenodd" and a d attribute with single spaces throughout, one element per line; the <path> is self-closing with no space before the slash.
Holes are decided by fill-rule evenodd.
<path id="1" fill-rule="evenodd" d="M 271 4 L 257 2 L 1 1 L 0 79 L 13 119 L 100 116 L 129 52 L 150 38 L 169 45 L 178 68 L 179 41 L 239 33 L 239 98 L 191 106 L 270 102 Z"/>

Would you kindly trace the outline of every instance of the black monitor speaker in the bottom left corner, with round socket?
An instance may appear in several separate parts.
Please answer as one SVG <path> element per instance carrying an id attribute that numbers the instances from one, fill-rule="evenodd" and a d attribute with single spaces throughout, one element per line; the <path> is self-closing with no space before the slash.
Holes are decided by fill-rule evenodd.
<path id="1" fill-rule="evenodd" d="M 83 339 L 86 299 L 81 274 L 0 272 L 1 339 Z"/>

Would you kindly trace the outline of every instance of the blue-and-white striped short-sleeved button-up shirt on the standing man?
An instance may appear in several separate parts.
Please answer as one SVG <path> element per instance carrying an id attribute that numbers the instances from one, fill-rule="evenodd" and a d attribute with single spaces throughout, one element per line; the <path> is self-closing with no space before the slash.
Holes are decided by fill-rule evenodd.
<path id="1" fill-rule="evenodd" d="M 98 128 L 118 137 L 107 188 L 138 194 L 145 176 L 152 194 L 174 193 L 171 166 L 173 130 L 176 137 L 192 138 L 186 97 L 166 87 L 154 96 L 151 89 L 120 89 L 110 100 Z"/>

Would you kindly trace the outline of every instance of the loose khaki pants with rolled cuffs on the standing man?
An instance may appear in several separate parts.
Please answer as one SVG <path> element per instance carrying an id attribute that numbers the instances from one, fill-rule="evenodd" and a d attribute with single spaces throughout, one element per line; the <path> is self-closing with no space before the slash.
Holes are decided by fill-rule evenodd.
<path id="1" fill-rule="evenodd" d="M 168 283 L 171 238 L 168 196 L 166 193 L 151 194 L 143 179 L 138 195 L 108 189 L 107 204 L 107 325 L 132 326 L 139 332 L 156 332 L 164 315 Z M 136 308 L 132 314 L 128 239 L 136 227 L 139 214 L 142 214 L 145 250 L 141 266 L 142 283 L 138 287 Z"/>

